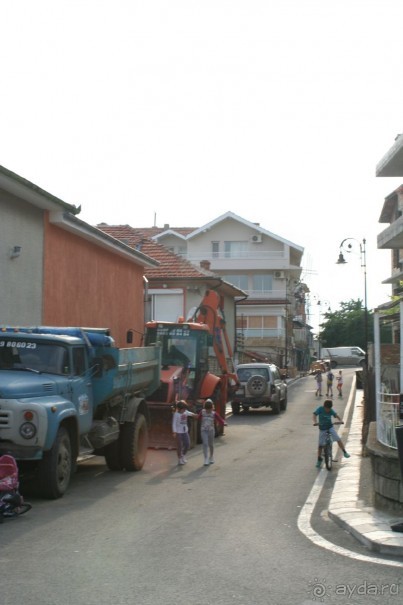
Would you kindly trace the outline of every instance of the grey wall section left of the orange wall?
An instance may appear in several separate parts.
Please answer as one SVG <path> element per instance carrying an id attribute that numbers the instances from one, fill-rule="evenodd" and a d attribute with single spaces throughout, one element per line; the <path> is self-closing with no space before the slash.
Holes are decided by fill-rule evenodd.
<path id="1" fill-rule="evenodd" d="M 0 190 L 0 325 L 40 324 L 43 211 Z M 10 258 L 10 250 L 21 254 Z"/>

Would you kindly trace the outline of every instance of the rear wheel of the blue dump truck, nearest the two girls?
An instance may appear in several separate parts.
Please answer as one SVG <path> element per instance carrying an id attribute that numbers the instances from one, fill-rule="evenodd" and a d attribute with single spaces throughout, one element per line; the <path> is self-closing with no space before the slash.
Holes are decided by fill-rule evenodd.
<path id="1" fill-rule="evenodd" d="M 143 468 L 147 456 L 148 430 L 143 414 L 138 414 L 134 422 L 125 422 L 120 429 L 120 460 L 127 471 Z"/>

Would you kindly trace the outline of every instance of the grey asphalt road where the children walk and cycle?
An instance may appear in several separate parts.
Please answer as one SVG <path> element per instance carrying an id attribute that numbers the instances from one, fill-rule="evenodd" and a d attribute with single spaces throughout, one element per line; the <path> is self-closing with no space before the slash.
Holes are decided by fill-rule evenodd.
<path id="1" fill-rule="evenodd" d="M 343 374 L 340 416 L 353 371 Z M 314 391 L 306 377 L 290 386 L 285 413 L 231 416 L 209 467 L 201 446 L 184 467 L 166 450 L 150 450 L 135 474 L 100 458 L 80 464 L 64 498 L 32 499 L 0 527 L 0 605 L 401 603 L 402 568 L 360 560 L 371 553 L 326 515 L 337 463 L 312 526 L 357 558 L 298 529 L 318 473 Z"/>

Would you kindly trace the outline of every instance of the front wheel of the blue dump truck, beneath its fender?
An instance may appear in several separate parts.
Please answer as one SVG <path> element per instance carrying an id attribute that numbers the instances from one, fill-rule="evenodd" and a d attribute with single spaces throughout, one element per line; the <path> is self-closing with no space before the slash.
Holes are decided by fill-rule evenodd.
<path id="1" fill-rule="evenodd" d="M 70 435 L 62 426 L 52 449 L 45 452 L 39 464 L 39 485 L 43 497 L 56 500 L 63 496 L 70 483 L 72 458 Z"/>

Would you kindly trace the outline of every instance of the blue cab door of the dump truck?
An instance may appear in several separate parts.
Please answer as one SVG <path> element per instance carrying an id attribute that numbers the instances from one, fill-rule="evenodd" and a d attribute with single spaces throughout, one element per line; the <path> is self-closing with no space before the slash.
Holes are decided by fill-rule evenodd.
<path id="1" fill-rule="evenodd" d="M 84 347 L 74 347 L 72 351 L 72 398 L 77 408 L 80 433 L 90 430 L 92 425 L 93 395 L 87 355 Z"/>

